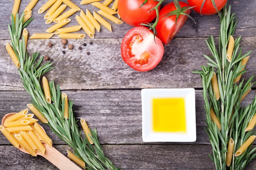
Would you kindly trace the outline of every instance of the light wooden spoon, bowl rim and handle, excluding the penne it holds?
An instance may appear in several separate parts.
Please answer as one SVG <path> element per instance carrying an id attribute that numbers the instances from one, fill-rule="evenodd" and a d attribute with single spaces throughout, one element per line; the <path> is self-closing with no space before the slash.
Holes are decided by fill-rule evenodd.
<path id="1" fill-rule="evenodd" d="M 13 114 L 16 114 L 16 113 L 6 114 L 2 118 L 2 125 L 4 125 L 5 119 L 7 119 L 9 116 Z M 43 143 L 43 145 L 45 147 L 45 153 L 42 154 L 41 152 L 36 152 L 37 155 L 44 157 L 60 170 L 81 170 L 79 166 L 77 166 L 74 162 L 72 162 L 70 159 L 65 157 L 61 152 L 56 150 L 54 147 L 49 146 L 47 143 Z M 23 149 L 20 146 L 18 149 L 21 150 L 22 152 L 29 154 L 29 152 L 27 152 L 25 149 Z"/>

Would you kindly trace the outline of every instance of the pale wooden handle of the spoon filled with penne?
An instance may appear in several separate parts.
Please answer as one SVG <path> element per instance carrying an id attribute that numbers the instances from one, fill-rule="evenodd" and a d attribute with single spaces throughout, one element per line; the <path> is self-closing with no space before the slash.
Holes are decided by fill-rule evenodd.
<path id="1" fill-rule="evenodd" d="M 54 147 L 50 147 L 49 145 L 45 146 L 45 154 L 41 156 L 50 161 L 60 170 L 81 170 L 79 166 L 77 166 L 70 159 L 65 157 L 61 152 L 56 150 Z"/>

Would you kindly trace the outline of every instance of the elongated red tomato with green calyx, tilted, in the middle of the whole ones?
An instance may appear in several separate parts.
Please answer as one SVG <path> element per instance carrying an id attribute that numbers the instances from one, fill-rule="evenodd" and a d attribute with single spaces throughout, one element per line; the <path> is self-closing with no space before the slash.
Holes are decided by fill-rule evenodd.
<path id="1" fill-rule="evenodd" d="M 185 2 L 179 2 L 180 7 L 189 7 L 189 4 Z M 175 7 L 174 2 L 166 4 L 160 11 L 159 11 L 159 21 L 157 22 L 156 31 L 157 36 L 162 40 L 162 42 L 167 45 L 173 37 L 180 31 L 181 27 L 186 22 L 188 18 L 185 15 L 180 14 L 177 19 L 177 23 L 175 24 L 176 15 L 166 16 L 167 13 L 171 11 L 175 11 L 177 8 Z M 191 9 L 184 11 L 184 13 L 190 14 Z"/>

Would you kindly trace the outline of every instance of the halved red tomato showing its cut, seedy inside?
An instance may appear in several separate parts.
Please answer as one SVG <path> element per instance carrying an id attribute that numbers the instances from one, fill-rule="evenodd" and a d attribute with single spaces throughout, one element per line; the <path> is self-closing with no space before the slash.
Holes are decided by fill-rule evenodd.
<path id="1" fill-rule="evenodd" d="M 130 29 L 121 43 L 121 56 L 133 69 L 145 72 L 155 68 L 164 54 L 161 40 L 145 27 Z"/>

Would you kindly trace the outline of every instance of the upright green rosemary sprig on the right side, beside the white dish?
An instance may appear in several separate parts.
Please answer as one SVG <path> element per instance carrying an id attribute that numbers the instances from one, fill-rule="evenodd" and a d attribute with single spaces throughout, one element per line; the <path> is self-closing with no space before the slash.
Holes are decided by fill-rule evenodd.
<path id="1" fill-rule="evenodd" d="M 256 154 L 253 154 L 256 148 L 251 150 L 251 144 L 240 156 L 235 157 L 234 154 L 236 150 L 245 143 L 249 136 L 256 133 L 252 130 L 245 132 L 249 121 L 256 112 L 256 97 L 254 97 L 252 104 L 247 105 L 245 108 L 243 108 L 240 103 L 242 96 L 255 82 L 251 83 L 253 76 L 246 82 L 242 80 L 239 84 L 234 84 L 234 80 L 240 74 L 246 72 L 244 69 L 245 65 L 242 66 L 241 61 L 243 58 L 247 57 L 251 51 L 242 55 L 242 49 L 239 45 L 241 37 L 238 37 L 234 43 L 232 59 L 230 62 L 227 60 L 229 37 L 234 35 L 238 21 L 235 17 L 235 13 L 231 13 L 231 6 L 229 6 L 228 9 L 225 6 L 218 14 L 220 17 L 219 49 L 217 50 L 215 46 L 213 36 L 208 38 L 206 42 L 213 56 L 204 55 L 204 57 L 209 60 L 209 63 L 207 63 L 207 66 L 201 66 L 202 70 L 193 73 L 200 74 L 202 78 L 202 96 L 204 98 L 207 124 L 205 130 L 213 149 L 213 156 L 209 156 L 215 163 L 216 170 L 243 170 L 249 161 L 256 156 Z M 218 101 L 216 100 L 211 83 L 213 72 L 216 72 L 218 78 L 218 89 L 220 91 L 220 100 Z M 220 130 L 211 119 L 211 108 L 220 121 Z M 227 166 L 227 147 L 230 138 L 234 139 L 234 150 L 231 166 Z"/>

